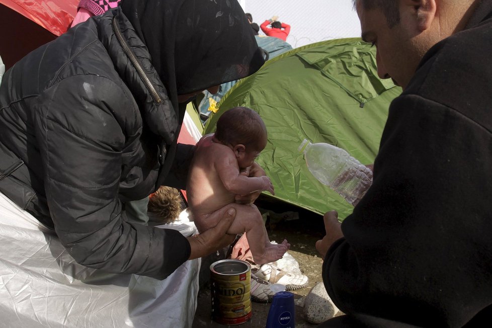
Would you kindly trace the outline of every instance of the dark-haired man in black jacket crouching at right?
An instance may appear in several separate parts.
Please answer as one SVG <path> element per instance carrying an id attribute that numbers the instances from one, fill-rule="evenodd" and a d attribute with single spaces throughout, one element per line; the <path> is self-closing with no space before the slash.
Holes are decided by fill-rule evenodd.
<path id="1" fill-rule="evenodd" d="M 346 315 L 321 327 L 492 320 L 492 0 L 356 0 L 390 105 L 374 180 L 324 215 L 323 281 Z"/>

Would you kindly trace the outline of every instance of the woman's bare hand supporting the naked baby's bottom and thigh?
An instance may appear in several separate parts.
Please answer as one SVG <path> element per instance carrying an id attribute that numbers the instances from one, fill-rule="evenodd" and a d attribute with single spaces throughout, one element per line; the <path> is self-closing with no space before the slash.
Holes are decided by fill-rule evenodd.
<path id="1" fill-rule="evenodd" d="M 236 235 L 227 234 L 227 230 L 229 230 L 235 216 L 236 210 L 230 208 L 216 226 L 196 236 L 188 237 L 187 239 L 190 242 L 191 247 L 189 260 L 202 258 L 230 245 L 234 241 Z"/>

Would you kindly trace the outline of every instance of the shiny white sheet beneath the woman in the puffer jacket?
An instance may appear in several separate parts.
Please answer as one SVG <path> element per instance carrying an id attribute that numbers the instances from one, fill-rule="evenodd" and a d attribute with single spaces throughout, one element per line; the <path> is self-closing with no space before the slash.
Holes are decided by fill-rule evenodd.
<path id="1" fill-rule="evenodd" d="M 81 266 L 0 193 L 0 327 L 191 327 L 200 264 L 162 281 Z"/>

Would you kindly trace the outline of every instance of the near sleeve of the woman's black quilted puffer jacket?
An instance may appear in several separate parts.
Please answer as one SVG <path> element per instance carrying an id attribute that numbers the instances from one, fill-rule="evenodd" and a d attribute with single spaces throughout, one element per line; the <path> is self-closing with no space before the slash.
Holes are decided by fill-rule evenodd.
<path id="1" fill-rule="evenodd" d="M 141 118 L 114 79 L 76 75 L 42 95 L 35 118 L 55 231 L 79 264 L 166 278 L 190 255 L 179 232 L 125 222 L 118 188 L 125 144 Z M 118 115 L 116 115 L 118 113 Z"/>

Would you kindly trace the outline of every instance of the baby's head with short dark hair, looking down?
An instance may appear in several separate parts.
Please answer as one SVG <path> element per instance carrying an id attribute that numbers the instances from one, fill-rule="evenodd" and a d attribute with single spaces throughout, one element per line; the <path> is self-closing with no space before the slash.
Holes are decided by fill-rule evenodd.
<path id="1" fill-rule="evenodd" d="M 217 121 L 215 138 L 231 146 L 239 167 L 247 168 L 267 145 L 267 128 L 260 115 L 248 107 L 234 107 Z"/>

